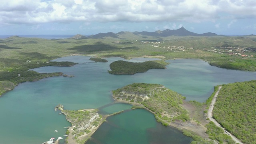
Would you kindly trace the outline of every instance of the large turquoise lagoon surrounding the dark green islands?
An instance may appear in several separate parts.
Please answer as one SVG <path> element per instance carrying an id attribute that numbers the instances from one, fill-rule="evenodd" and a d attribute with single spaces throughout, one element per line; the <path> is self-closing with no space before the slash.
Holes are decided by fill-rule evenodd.
<path id="1" fill-rule="evenodd" d="M 109 64 L 123 59 L 106 59 L 109 62 L 95 63 L 89 57 L 70 56 L 56 61 L 79 64 L 34 69 L 38 72 L 64 72 L 75 77 L 60 76 L 25 82 L 4 94 L 0 98 L 0 143 L 41 144 L 51 137 L 63 137 L 66 130 L 63 127 L 70 126 L 70 123 L 63 115 L 58 115 L 58 111 L 54 111 L 56 105 L 63 104 L 65 109 L 70 110 L 100 108 L 113 102 L 111 90 L 134 82 L 163 84 L 186 96 L 186 100 L 204 102 L 218 84 L 256 80 L 256 72 L 226 70 L 194 59 L 168 60 L 171 64 L 166 66 L 167 69 L 117 76 L 108 74 Z M 151 59 L 136 58 L 130 61 L 145 60 Z M 114 109 L 119 111 L 126 108 L 120 106 L 120 109 Z"/>

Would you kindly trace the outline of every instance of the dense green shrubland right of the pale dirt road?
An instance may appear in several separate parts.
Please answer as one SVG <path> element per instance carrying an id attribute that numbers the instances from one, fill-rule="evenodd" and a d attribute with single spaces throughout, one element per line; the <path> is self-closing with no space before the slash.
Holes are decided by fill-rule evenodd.
<path id="1" fill-rule="evenodd" d="M 256 144 L 256 80 L 223 85 L 213 117 L 246 144 Z"/>

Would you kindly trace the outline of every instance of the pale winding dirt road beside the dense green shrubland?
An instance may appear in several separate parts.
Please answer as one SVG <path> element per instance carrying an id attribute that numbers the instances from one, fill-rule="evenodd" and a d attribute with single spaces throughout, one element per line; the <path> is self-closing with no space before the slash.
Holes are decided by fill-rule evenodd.
<path id="1" fill-rule="evenodd" d="M 214 95 L 214 97 L 213 97 L 213 99 L 212 99 L 212 102 L 211 102 L 211 105 L 210 105 L 210 107 L 209 107 L 209 109 L 208 109 L 208 112 L 207 112 L 208 118 L 209 118 L 212 122 L 214 122 L 214 124 L 215 124 L 216 126 L 218 126 L 218 127 L 220 127 L 220 128 L 222 128 L 222 126 L 220 126 L 220 124 L 219 124 L 214 118 L 212 118 L 212 110 L 213 110 L 214 104 L 215 104 L 215 102 L 216 102 L 216 98 L 217 98 L 217 96 L 218 96 L 218 94 L 219 94 L 221 88 L 222 88 L 222 86 L 219 86 L 219 89 L 218 89 L 218 91 L 216 92 L 216 94 Z M 224 128 L 222 128 L 222 129 L 225 131 Z M 228 132 L 225 132 L 225 134 L 229 134 L 229 133 L 228 133 Z M 240 140 L 238 140 L 238 139 L 237 139 L 235 136 L 233 136 L 232 134 L 229 134 L 229 136 L 231 136 L 231 138 L 232 138 L 236 143 L 238 143 L 238 144 L 243 144 Z"/>

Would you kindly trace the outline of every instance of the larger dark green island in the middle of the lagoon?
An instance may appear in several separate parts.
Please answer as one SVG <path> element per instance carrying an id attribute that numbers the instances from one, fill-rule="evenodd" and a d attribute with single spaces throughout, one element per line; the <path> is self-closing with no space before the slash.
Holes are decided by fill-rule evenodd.
<path id="1" fill-rule="evenodd" d="M 146 72 L 150 69 L 165 69 L 168 63 L 163 60 L 146 61 L 146 62 L 126 62 L 118 60 L 112 62 L 108 70 L 110 74 L 136 74 L 138 72 Z"/>

